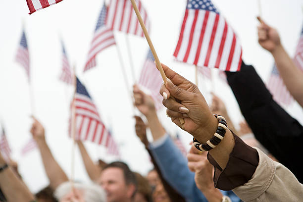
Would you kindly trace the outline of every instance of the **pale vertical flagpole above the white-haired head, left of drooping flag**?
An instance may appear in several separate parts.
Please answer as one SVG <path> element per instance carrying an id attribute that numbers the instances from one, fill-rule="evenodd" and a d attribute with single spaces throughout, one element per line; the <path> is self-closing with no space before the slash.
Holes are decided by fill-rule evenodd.
<path id="1" fill-rule="evenodd" d="M 76 144 L 76 104 L 75 104 L 75 96 L 77 92 L 77 77 L 76 77 L 76 65 L 73 68 L 73 83 L 74 83 L 74 93 L 71 105 L 71 135 L 73 138 L 72 143 L 72 153 L 71 153 L 71 175 L 70 175 L 70 183 L 72 190 L 74 188 L 74 177 L 75 177 L 75 144 Z"/>

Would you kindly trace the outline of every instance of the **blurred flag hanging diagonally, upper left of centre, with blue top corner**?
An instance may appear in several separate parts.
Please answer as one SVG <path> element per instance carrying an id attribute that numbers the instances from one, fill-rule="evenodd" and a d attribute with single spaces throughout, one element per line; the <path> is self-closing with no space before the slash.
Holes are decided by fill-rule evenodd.
<path id="1" fill-rule="evenodd" d="M 99 52 L 116 44 L 113 32 L 105 25 L 106 13 L 107 7 L 104 3 L 97 21 L 94 38 L 91 43 L 84 71 L 96 66 L 96 55 Z"/>

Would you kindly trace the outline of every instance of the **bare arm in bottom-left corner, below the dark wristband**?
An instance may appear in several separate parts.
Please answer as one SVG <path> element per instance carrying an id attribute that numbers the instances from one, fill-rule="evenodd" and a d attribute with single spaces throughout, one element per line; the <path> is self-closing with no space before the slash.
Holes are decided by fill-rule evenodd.
<path id="1" fill-rule="evenodd" d="M 8 202 L 32 202 L 34 196 L 10 167 L 0 152 L 0 188 Z"/>

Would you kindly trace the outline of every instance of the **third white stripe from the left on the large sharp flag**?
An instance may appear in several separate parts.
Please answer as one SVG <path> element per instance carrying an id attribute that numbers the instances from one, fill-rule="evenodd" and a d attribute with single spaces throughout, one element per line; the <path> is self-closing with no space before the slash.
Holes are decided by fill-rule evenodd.
<path id="1" fill-rule="evenodd" d="M 212 33 L 212 28 L 214 21 L 216 19 L 216 13 L 215 12 L 209 12 L 208 20 L 207 20 L 207 25 L 204 33 L 204 39 L 201 47 L 201 52 L 200 52 L 200 57 L 198 60 L 198 66 L 204 66 L 207 50 L 209 47 L 209 41 Z"/>

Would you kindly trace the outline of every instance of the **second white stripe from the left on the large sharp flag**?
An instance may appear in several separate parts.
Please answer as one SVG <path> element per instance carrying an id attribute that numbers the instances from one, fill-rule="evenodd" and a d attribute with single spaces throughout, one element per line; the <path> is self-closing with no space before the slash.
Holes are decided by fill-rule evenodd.
<path id="1" fill-rule="evenodd" d="M 201 36 L 203 21 L 204 21 L 204 18 L 205 18 L 205 13 L 206 12 L 204 10 L 201 10 L 201 11 L 198 12 L 196 27 L 195 27 L 194 35 L 193 35 L 192 46 L 191 46 L 191 50 L 190 50 L 188 60 L 187 60 L 187 62 L 190 63 L 190 64 L 193 64 L 194 61 L 195 61 L 197 49 L 198 49 L 198 46 L 199 46 L 199 39 L 200 39 L 200 36 Z"/>

